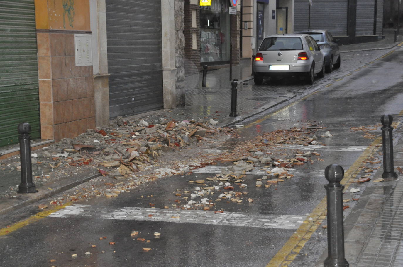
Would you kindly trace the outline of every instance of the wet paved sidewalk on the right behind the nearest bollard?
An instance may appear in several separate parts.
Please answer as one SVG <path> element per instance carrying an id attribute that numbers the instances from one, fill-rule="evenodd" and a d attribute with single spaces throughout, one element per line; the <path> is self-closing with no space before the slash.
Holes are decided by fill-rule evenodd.
<path id="1" fill-rule="evenodd" d="M 396 170 L 403 166 L 402 130 L 398 127 L 393 131 L 398 136 L 394 140 L 398 178 L 370 181 L 344 221 L 345 259 L 350 267 L 403 266 L 403 173 Z M 381 178 L 382 173 L 380 168 L 373 180 Z M 325 247 L 314 266 L 323 267 L 327 256 Z"/>

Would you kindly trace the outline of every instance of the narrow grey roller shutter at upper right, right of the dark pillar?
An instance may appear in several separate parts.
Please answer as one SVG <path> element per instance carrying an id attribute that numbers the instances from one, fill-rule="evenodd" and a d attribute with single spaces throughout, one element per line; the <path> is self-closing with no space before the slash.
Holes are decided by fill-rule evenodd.
<path id="1" fill-rule="evenodd" d="M 357 0 L 356 36 L 374 35 L 374 12 L 374 0 Z"/>

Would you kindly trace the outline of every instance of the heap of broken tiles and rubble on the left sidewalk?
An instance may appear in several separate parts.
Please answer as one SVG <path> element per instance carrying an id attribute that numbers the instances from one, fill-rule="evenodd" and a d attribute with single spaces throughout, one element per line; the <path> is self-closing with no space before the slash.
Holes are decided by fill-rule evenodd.
<path id="1" fill-rule="evenodd" d="M 162 125 L 144 120 L 131 123 L 118 117 L 113 126 L 118 127 L 87 129 L 77 138 L 65 138 L 53 149 L 33 154 L 37 158 L 35 161 L 41 160 L 43 164 L 48 160 L 52 168 L 101 165 L 98 170 L 103 176 L 130 179 L 158 162 L 165 152 L 196 144 L 204 138 L 214 138 L 219 133 L 229 133 L 229 129 L 187 120 Z"/>

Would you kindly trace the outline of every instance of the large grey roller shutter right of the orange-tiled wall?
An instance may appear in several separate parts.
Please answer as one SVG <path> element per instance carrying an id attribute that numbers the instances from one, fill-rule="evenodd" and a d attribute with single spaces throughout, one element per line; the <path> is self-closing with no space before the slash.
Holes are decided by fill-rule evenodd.
<path id="1" fill-rule="evenodd" d="M 110 117 L 163 108 L 161 0 L 106 0 Z"/>

